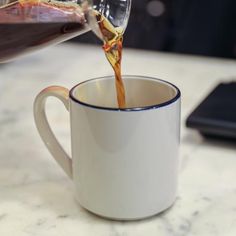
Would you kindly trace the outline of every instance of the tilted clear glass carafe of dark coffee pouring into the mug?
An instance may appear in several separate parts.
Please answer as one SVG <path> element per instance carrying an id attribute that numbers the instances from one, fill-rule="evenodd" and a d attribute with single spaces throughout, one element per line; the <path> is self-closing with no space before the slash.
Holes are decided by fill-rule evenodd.
<path id="1" fill-rule="evenodd" d="M 97 14 L 119 31 L 131 0 L 0 0 L 0 63 L 92 30 L 101 40 Z"/>

